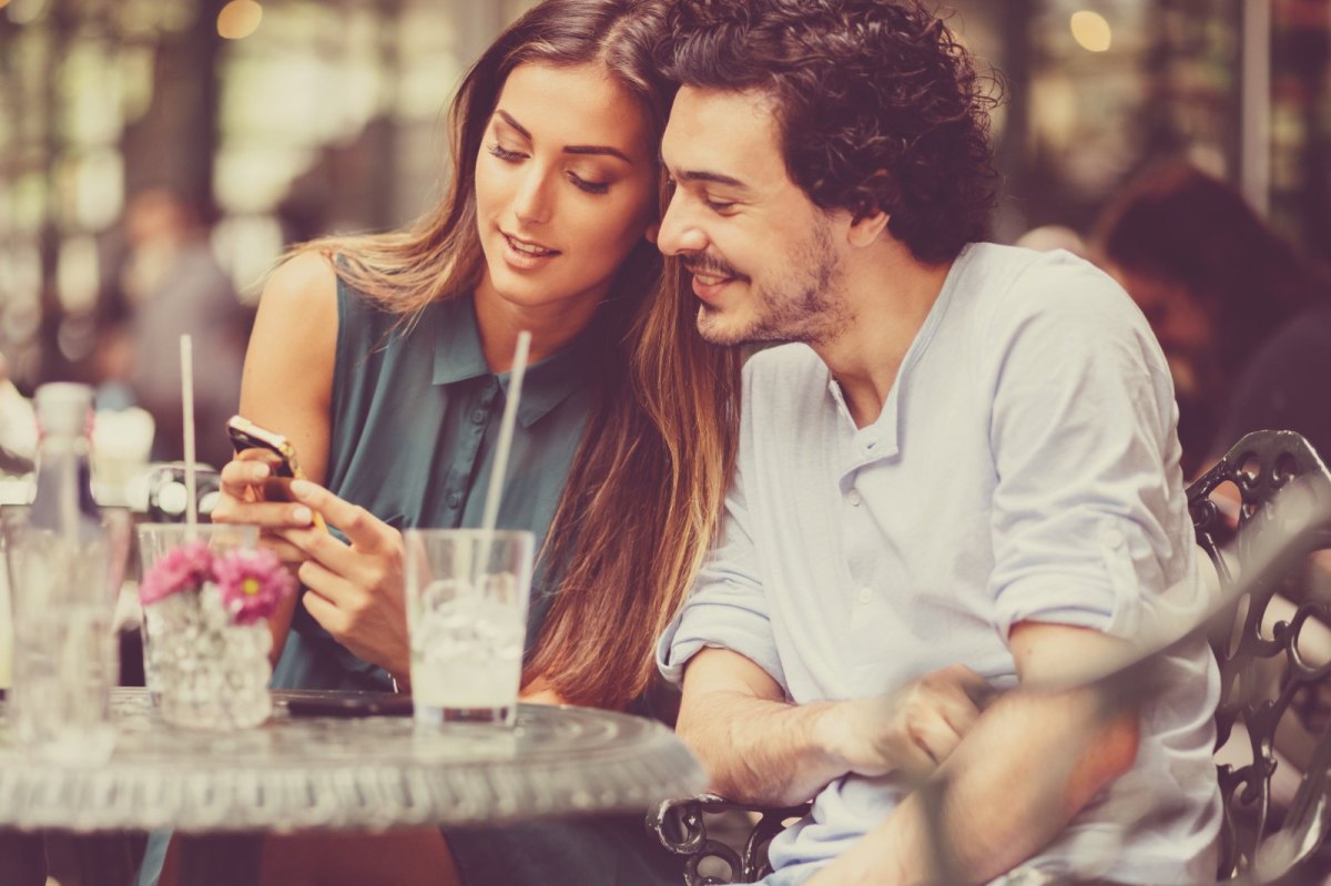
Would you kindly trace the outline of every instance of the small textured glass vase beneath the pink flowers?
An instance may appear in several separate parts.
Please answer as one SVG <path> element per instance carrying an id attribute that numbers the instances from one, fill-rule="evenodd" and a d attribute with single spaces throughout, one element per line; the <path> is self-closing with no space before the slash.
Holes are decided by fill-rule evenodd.
<path id="1" fill-rule="evenodd" d="M 144 608 L 162 720 L 190 729 L 245 729 L 273 712 L 266 621 L 237 624 L 213 583 Z"/>

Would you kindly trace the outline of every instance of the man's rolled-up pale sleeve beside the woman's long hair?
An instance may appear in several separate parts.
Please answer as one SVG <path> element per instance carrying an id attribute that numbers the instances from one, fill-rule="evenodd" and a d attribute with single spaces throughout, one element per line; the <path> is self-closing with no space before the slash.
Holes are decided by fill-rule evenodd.
<path id="1" fill-rule="evenodd" d="M 736 472 L 725 498 L 721 529 L 693 591 L 656 644 L 656 666 L 675 684 L 684 680 L 689 659 L 703 648 L 716 647 L 749 659 L 785 686 L 749 533 L 741 472 Z"/>

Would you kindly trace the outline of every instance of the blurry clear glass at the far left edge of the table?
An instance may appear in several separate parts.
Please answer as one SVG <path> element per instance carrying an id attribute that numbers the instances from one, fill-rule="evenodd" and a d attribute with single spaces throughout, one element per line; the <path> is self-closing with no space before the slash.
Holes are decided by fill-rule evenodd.
<path id="1" fill-rule="evenodd" d="M 100 762 L 114 745 L 110 690 L 120 659 L 112 623 L 132 517 L 104 508 L 100 531 L 71 536 L 31 516 L 27 506 L 0 508 L 13 605 L 9 721 L 16 740 L 40 756 Z"/>

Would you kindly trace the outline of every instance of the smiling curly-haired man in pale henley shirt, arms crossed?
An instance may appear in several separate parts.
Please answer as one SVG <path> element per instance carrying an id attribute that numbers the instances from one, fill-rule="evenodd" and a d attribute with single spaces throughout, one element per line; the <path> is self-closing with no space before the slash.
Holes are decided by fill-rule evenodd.
<path id="1" fill-rule="evenodd" d="M 1205 603 L 1145 318 L 977 242 L 989 100 L 917 4 L 684 0 L 675 37 L 660 246 L 704 338 L 796 342 L 745 369 L 727 520 L 659 651 L 716 790 L 813 800 L 765 882 L 1214 877 L 1205 640 L 1126 705 L 1058 688 Z"/>

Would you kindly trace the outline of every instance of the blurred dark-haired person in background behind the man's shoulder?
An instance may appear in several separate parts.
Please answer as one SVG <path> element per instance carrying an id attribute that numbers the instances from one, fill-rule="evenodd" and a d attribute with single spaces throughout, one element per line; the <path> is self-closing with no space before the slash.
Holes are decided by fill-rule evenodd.
<path id="1" fill-rule="evenodd" d="M 1331 455 L 1331 278 L 1238 190 L 1157 166 L 1105 208 L 1093 245 L 1169 358 L 1186 476 L 1259 428 Z"/>

